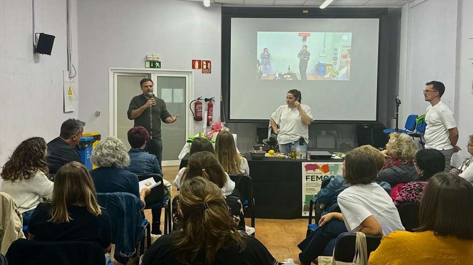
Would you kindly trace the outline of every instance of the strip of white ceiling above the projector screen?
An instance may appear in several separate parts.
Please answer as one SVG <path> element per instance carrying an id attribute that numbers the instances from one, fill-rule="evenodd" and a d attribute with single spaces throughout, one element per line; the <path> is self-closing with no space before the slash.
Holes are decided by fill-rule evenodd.
<path id="1" fill-rule="evenodd" d="M 182 0 L 202 2 L 202 0 Z M 329 7 L 383 7 L 400 8 L 414 0 L 334 0 Z M 212 3 L 245 6 L 313 6 L 319 7 L 324 0 L 212 0 Z"/>

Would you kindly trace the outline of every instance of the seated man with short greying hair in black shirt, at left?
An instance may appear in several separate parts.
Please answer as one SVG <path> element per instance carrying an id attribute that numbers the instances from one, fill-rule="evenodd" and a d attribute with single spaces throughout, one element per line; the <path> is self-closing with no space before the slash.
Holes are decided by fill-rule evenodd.
<path id="1" fill-rule="evenodd" d="M 49 173 L 55 174 L 66 163 L 76 161 L 82 163 L 81 156 L 74 148 L 81 141 L 85 122 L 68 119 L 61 125 L 59 137 L 48 143 Z"/>

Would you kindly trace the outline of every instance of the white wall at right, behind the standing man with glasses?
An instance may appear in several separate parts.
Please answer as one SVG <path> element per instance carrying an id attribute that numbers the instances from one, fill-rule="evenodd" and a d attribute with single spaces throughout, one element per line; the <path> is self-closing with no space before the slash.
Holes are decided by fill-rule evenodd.
<path id="1" fill-rule="evenodd" d="M 467 0 L 418 0 L 403 7 L 401 32 L 400 95 L 406 104 L 401 117 L 425 114 L 429 103 L 422 90 L 431 80 L 445 84 L 442 101 L 455 115 L 460 133 L 453 155 L 454 166 L 461 164 L 466 153 L 467 136 L 473 134 L 471 119 L 471 81 L 473 57 L 473 2 Z"/>

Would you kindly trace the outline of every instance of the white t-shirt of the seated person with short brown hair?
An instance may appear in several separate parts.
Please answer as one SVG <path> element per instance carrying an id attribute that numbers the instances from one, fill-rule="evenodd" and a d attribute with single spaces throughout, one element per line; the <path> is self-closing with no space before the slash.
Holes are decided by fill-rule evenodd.
<path id="1" fill-rule="evenodd" d="M 350 186 L 340 193 L 337 202 L 350 232 L 359 231 L 371 215 L 381 225 L 383 235 L 406 230 L 391 197 L 376 183 Z"/>

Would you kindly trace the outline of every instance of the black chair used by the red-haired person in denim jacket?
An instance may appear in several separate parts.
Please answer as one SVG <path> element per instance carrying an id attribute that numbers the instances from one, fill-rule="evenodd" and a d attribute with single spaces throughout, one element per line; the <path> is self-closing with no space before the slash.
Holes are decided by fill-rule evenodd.
<path id="1" fill-rule="evenodd" d="M 161 182 L 161 184 L 152 188 L 151 192 L 144 198 L 146 202 L 144 209 L 164 208 L 164 234 L 167 234 L 168 231 L 171 233 L 171 198 L 165 195 L 163 177 L 160 174 L 138 175 L 138 181 L 144 181 L 149 178 L 153 178 L 156 183 Z M 161 220 L 159 221 L 161 222 Z"/>

